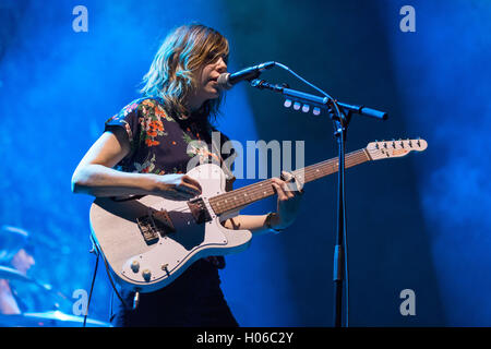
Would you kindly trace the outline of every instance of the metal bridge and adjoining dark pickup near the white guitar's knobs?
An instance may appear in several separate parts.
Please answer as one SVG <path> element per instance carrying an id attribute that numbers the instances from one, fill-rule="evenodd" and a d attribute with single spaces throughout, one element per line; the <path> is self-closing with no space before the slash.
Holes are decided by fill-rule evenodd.
<path id="1" fill-rule="evenodd" d="M 176 231 L 169 213 L 165 209 L 139 217 L 136 222 L 146 244 L 154 244 L 159 236 L 164 237 Z"/>

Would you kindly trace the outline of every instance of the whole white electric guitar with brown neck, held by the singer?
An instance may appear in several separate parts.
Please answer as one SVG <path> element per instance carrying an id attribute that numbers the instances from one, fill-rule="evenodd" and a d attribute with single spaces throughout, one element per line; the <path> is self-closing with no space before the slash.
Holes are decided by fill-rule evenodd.
<path id="1" fill-rule="evenodd" d="M 403 157 L 427 147 L 424 140 L 371 142 L 366 148 L 347 154 L 345 165 L 349 168 Z M 308 183 L 337 170 L 336 157 L 292 173 L 301 183 Z M 225 173 L 214 164 L 197 166 L 187 174 L 197 180 L 203 190 L 188 202 L 146 195 L 127 201 L 97 197 L 92 204 L 93 241 L 122 288 L 155 291 L 172 282 L 199 258 L 246 250 L 251 231 L 227 229 L 220 221 L 275 194 L 271 179 L 226 192 Z"/>

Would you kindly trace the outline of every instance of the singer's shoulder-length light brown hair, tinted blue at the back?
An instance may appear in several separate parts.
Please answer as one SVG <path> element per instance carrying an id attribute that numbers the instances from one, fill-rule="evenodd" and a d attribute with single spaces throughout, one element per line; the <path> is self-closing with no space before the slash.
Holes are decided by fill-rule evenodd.
<path id="1" fill-rule="evenodd" d="M 228 52 L 228 41 L 217 31 L 202 24 L 180 26 L 160 45 L 140 92 L 163 98 L 166 107 L 179 115 L 189 115 L 185 100 L 197 87 L 194 73 L 220 56 L 227 61 Z M 220 94 L 207 100 L 199 113 L 216 117 L 221 99 Z"/>

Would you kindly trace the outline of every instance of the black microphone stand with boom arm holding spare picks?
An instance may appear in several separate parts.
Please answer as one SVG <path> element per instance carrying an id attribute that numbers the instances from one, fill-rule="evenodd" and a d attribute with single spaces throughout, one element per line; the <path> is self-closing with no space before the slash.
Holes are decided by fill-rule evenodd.
<path id="1" fill-rule="evenodd" d="M 264 80 L 251 81 L 251 86 L 259 89 L 270 89 L 284 95 L 287 98 L 286 107 L 294 104 L 294 109 L 308 112 L 310 106 L 313 106 L 313 113 L 320 115 L 321 109 L 327 110 L 331 120 L 334 122 L 334 136 L 338 144 L 339 164 L 338 164 L 338 190 L 337 190 L 337 229 L 336 229 L 336 244 L 334 246 L 334 266 L 333 266 L 333 281 L 334 281 L 334 326 L 343 326 L 343 286 L 345 280 L 345 273 L 343 265 L 346 266 L 346 277 L 348 274 L 347 267 L 347 229 L 346 229 L 346 197 L 345 197 L 345 155 L 346 155 L 346 135 L 348 124 L 351 121 L 352 113 L 374 118 L 378 120 L 386 120 L 387 113 L 384 111 L 367 108 L 363 106 L 354 106 L 328 97 L 319 97 L 303 92 L 288 88 L 287 85 L 273 85 Z M 303 105 L 303 107 L 300 107 Z M 346 297 L 348 304 L 348 294 Z M 348 306 L 346 309 L 346 327 L 348 326 Z"/>

